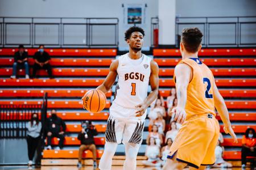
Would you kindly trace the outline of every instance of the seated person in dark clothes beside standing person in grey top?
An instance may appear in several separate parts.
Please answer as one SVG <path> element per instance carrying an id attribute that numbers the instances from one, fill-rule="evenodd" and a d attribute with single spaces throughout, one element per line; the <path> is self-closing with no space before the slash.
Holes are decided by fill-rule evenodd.
<path id="1" fill-rule="evenodd" d="M 56 150 L 63 148 L 64 143 L 64 133 L 66 130 L 65 122 L 57 116 L 56 111 L 51 111 L 51 117 L 47 119 L 46 122 L 46 132 L 47 132 L 47 149 L 51 150 L 52 138 L 57 137 L 60 139 L 59 146 L 56 147 Z"/>

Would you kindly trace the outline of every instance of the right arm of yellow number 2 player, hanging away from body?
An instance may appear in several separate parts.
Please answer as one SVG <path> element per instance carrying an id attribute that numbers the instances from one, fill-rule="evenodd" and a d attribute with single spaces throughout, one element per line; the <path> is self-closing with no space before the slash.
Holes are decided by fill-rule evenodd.
<path id="1" fill-rule="evenodd" d="M 226 134 L 230 134 L 232 138 L 234 139 L 234 143 L 237 143 L 237 136 L 234 133 L 231 123 L 229 121 L 229 112 L 228 108 L 226 108 L 225 101 L 223 97 L 221 96 L 220 92 L 218 91 L 218 88 L 216 86 L 216 83 L 213 83 L 213 100 L 215 108 L 218 111 L 218 114 L 220 114 L 221 120 L 224 123 L 224 131 Z"/>

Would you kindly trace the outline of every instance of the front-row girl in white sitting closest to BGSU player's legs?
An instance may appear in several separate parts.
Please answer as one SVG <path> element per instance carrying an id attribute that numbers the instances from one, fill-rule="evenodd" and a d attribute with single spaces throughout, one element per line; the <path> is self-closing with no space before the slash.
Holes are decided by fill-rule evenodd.
<path id="1" fill-rule="evenodd" d="M 148 145 L 146 147 L 145 156 L 147 160 L 143 160 L 142 164 L 150 167 L 160 167 L 160 148 L 156 145 L 155 138 L 151 137 L 149 139 Z"/>

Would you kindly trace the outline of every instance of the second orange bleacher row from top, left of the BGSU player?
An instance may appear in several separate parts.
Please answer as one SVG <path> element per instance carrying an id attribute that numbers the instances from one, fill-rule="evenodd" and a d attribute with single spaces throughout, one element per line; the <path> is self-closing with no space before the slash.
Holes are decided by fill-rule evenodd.
<path id="1" fill-rule="evenodd" d="M 113 59 L 110 58 L 52 58 L 52 66 L 110 66 Z M 1 66 L 13 66 L 13 58 L 0 58 Z M 30 66 L 34 65 L 34 59 L 28 58 Z"/>

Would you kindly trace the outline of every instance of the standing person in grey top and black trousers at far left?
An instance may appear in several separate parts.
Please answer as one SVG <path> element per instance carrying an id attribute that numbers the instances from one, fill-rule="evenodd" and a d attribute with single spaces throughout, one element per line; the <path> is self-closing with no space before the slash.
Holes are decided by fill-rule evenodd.
<path id="1" fill-rule="evenodd" d="M 32 160 L 35 155 L 36 148 L 40 141 L 40 132 L 42 124 L 39 121 L 38 114 L 32 113 L 31 120 L 26 124 L 27 128 L 27 150 L 28 150 L 28 166 L 32 165 Z"/>

